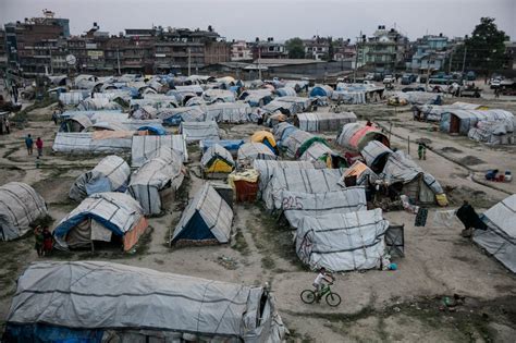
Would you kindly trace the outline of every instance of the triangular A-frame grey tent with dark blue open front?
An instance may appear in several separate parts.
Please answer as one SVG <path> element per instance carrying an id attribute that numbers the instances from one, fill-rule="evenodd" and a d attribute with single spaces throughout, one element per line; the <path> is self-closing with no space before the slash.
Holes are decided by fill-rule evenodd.
<path id="1" fill-rule="evenodd" d="M 171 243 L 229 243 L 232 222 L 230 205 L 206 183 L 183 211 Z"/>

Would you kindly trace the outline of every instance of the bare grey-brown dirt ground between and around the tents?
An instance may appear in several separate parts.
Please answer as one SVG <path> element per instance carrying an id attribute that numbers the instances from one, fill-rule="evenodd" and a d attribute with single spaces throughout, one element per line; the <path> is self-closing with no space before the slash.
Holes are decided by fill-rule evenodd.
<path id="1" fill-rule="evenodd" d="M 468 99 L 460 99 L 469 101 Z M 446 99 L 453 102 L 452 99 Z M 475 99 L 491 108 L 516 113 L 516 101 Z M 323 111 L 324 109 L 322 109 Z M 384 103 L 349 106 L 360 119 L 390 127 L 394 146 L 408 149 L 417 159 L 418 138 L 430 139 L 427 160 L 418 161 L 444 187 L 452 189 L 452 208 L 468 199 L 478 211 L 489 208 L 516 192 L 513 183 L 488 183 L 488 169 L 516 172 L 514 147 L 489 147 L 433 131 L 431 124 L 414 122 L 408 107 L 389 108 Z M 50 216 L 61 220 L 76 204 L 67 198 L 74 179 L 93 168 L 100 156 L 66 156 L 51 152 L 57 127 L 50 121 L 51 108 L 29 113 L 24 130 L 0 136 L 0 181 L 21 181 L 33 185 L 47 200 Z M 255 124 L 221 126 L 224 138 L 247 138 Z M 23 137 L 41 136 L 45 156 L 37 169 L 28 157 Z M 334 136 L 334 133 L 325 133 Z M 415 216 L 405 211 L 385 212 L 385 218 L 405 225 L 405 257 L 397 258 L 396 271 L 370 270 L 341 273 L 334 291 L 342 304 L 305 305 L 299 293 L 315 278 L 295 255 L 292 232 L 268 215 L 260 203 L 235 205 L 232 244 L 170 248 L 170 230 L 181 217 L 186 198 L 202 185 L 199 179 L 198 148 L 191 148 L 189 179 L 176 201 L 167 204 L 161 217 L 149 219 L 151 230 L 135 252 L 88 250 L 56 254 L 48 259 L 110 260 L 160 271 L 245 284 L 270 282 L 278 309 L 291 331 L 292 342 L 514 342 L 516 334 L 516 278 L 479 247 L 459 235 L 460 225 L 438 226 L 431 208 L 425 228 L 414 225 Z M 34 237 L 0 242 L 0 318 L 4 323 L 17 275 L 37 260 Z M 464 296 L 453 311 L 443 306 L 444 297 Z M 1 328 L 0 328 L 1 330 Z"/>

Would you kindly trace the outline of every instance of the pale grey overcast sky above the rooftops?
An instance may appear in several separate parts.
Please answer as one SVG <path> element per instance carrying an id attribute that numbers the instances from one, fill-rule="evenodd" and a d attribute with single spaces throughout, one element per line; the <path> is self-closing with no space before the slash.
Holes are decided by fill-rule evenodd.
<path id="1" fill-rule="evenodd" d="M 72 35 L 91 27 L 118 34 L 124 28 L 213 28 L 228 39 L 314 35 L 352 38 L 394 26 L 410 39 L 443 33 L 470 34 L 481 16 L 516 40 L 516 0 L 0 0 L 0 22 L 40 16 L 42 9 L 70 19 Z"/>

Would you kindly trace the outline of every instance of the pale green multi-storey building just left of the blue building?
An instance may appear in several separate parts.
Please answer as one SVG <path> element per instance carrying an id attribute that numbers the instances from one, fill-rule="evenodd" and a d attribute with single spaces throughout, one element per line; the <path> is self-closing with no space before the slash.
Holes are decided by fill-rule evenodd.
<path id="1" fill-rule="evenodd" d="M 388 30 L 385 26 L 380 25 L 372 36 L 360 37 L 357 46 L 357 60 L 360 65 L 366 64 L 380 71 L 405 69 L 408 39 L 395 28 Z"/>

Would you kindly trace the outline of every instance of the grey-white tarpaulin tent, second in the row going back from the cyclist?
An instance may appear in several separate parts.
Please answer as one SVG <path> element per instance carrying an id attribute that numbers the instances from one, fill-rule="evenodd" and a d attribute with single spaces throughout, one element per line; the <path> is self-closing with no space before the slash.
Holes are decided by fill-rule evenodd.
<path id="1" fill-rule="evenodd" d="M 303 217 L 320 217 L 331 213 L 348 213 L 367 210 L 366 192 L 364 187 L 328 193 L 282 192 L 282 209 L 286 220 L 297 228 Z"/>

